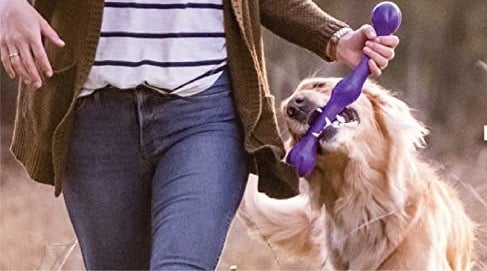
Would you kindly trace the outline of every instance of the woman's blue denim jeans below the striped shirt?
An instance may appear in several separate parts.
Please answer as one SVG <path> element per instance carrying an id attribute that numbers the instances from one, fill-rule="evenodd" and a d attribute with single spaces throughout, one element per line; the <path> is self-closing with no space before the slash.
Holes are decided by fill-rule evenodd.
<path id="1" fill-rule="evenodd" d="M 79 99 L 63 193 L 87 269 L 216 267 L 248 177 L 230 88 Z"/>

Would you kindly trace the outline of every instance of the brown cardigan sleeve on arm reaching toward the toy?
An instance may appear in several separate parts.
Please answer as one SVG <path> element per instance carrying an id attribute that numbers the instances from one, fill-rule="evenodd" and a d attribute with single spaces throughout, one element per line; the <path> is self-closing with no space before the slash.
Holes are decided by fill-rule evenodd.
<path id="1" fill-rule="evenodd" d="M 348 25 L 324 12 L 311 0 L 261 0 L 262 24 L 273 33 L 316 53 L 326 61 L 326 45 Z"/>

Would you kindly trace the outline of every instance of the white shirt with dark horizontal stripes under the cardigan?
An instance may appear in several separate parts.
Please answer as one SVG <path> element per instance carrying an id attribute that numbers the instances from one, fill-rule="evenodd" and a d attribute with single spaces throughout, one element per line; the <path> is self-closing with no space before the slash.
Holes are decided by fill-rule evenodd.
<path id="1" fill-rule="evenodd" d="M 80 96 L 108 85 L 190 96 L 210 87 L 226 62 L 222 0 L 105 0 Z"/>

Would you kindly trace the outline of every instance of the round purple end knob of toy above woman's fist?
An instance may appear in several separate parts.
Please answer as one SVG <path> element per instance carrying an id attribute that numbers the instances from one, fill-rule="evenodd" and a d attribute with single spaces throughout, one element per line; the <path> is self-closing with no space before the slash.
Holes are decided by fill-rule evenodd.
<path id="1" fill-rule="evenodd" d="M 372 25 L 378 36 L 394 34 L 401 25 L 401 10 L 389 1 L 380 2 L 372 10 Z"/>

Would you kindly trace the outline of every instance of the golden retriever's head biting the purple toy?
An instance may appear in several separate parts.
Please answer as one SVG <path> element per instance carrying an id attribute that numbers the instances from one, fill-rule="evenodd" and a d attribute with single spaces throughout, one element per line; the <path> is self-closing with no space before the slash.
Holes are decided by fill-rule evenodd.
<path id="1" fill-rule="evenodd" d="M 339 78 L 303 80 L 294 94 L 283 101 L 281 110 L 293 143 L 306 134 L 319 114 L 316 109 L 330 99 Z M 320 153 L 341 153 L 348 157 L 369 152 L 387 152 L 392 145 L 414 150 L 424 144 L 427 130 L 410 108 L 389 91 L 367 81 L 359 98 L 347 106 L 320 138 Z M 383 156 L 382 153 L 381 156 Z"/>

